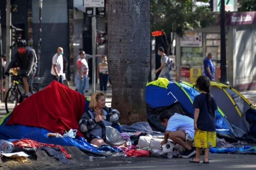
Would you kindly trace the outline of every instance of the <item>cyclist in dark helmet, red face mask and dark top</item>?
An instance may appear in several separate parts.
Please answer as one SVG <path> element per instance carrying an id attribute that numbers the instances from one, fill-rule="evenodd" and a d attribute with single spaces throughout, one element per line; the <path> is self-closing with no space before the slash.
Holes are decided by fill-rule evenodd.
<path id="1" fill-rule="evenodd" d="M 29 84 L 28 81 L 30 78 L 33 78 L 36 73 L 35 68 L 35 50 L 26 48 L 27 42 L 24 39 L 17 40 L 18 51 L 11 59 L 9 66 L 6 69 L 5 75 L 9 75 L 9 70 L 13 66 L 17 65 L 19 70 L 19 76 L 21 76 L 22 81 L 24 83 L 25 89 L 25 98 L 31 95 L 29 92 Z"/>

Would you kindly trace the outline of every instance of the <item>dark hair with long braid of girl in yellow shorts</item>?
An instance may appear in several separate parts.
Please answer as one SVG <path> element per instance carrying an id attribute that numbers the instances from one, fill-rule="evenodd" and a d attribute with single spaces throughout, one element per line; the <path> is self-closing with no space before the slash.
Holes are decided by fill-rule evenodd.
<path id="1" fill-rule="evenodd" d="M 210 113 L 210 79 L 207 76 L 199 76 L 196 80 L 196 87 L 207 92 L 207 109 Z"/>

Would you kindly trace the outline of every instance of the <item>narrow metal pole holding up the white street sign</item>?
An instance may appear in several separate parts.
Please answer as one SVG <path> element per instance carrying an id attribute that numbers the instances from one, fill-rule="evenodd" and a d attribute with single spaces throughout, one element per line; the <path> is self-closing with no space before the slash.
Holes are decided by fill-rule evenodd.
<path id="1" fill-rule="evenodd" d="M 96 8 L 93 8 L 93 18 L 91 21 L 92 25 L 92 42 L 93 42 L 93 93 L 96 91 L 95 88 L 95 75 L 96 75 Z"/>

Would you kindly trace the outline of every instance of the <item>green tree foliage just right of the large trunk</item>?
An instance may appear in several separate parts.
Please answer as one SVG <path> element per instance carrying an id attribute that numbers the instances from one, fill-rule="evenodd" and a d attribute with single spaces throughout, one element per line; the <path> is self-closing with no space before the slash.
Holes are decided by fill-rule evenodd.
<path id="1" fill-rule="evenodd" d="M 201 0 L 209 2 L 209 0 Z M 208 7 L 196 7 L 192 12 L 192 0 L 151 0 L 152 31 L 163 30 L 183 36 L 186 30 L 204 28 L 216 22 Z"/>

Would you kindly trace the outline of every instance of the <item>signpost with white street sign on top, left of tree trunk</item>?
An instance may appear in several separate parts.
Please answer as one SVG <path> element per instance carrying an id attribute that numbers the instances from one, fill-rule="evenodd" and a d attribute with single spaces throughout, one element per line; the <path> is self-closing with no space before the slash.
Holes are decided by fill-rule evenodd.
<path id="1" fill-rule="evenodd" d="M 93 14 L 92 20 L 91 20 L 91 26 L 92 26 L 92 48 L 93 48 L 93 93 L 96 91 L 95 88 L 95 79 L 96 79 L 96 8 L 105 8 L 105 0 L 84 0 L 83 1 L 84 6 L 85 6 L 85 10 L 86 8 L 93 8 L 93 10 L 90 11 L 86 11 L 86 14 L 89 14 L 91 16 L 91 14 Z M 104 12 L 105 15 L 105 12 Z"/>

